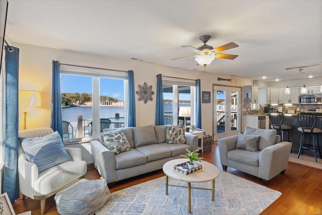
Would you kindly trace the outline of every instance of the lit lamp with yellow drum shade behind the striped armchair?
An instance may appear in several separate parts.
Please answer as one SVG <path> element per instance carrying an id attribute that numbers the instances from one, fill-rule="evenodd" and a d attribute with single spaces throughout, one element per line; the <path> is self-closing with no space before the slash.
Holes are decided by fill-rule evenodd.
<path id="1" fill-rule="evenodd" d="M 24 130 L 26 130 L 27 107 L 40 107 L 41 97 L 39 91 L 20 90 L 19 91 L 19 107 L 24 108 Z"/>

